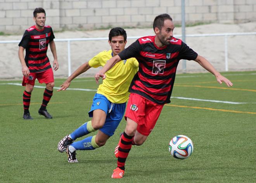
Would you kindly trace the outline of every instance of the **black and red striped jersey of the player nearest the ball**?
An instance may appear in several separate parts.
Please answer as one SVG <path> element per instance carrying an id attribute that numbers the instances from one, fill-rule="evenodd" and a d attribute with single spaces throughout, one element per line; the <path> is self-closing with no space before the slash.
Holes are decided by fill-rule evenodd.
<path id="1" fill-rule="evenodd" d="M 139 38 L 118 55 L 121 60 L 135 57 L 139 62 L 139 70 L 133 77 L 129 92 L 154 103 L 165 104 L 171 102 L 179 60 L 195 60 L 197 53 L 174 37 L 169 45 L 159 48 L 154 43 L 155 37 Z"/>

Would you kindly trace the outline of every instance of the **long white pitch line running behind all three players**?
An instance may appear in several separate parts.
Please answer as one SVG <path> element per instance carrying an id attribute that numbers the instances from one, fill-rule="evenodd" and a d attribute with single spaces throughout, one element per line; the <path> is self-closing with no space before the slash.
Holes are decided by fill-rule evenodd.
<path id="1" fill-rule="evenodd" d="M 20 83 L 0 83 L 0 85 L 16 85 L 22 86 Z M 45 88 L 45 86 L 34 86 L 36 88 Z M 60 89 L 60 87 L 54 87 L 54 89 Z M 81 89 L 81 88 L 67 88 L 67 90 L 75 91 L 97 91 L 93 89 Z M 171 97 L 174 99 L 183 99 L 183 100 L 194 100 L 194 101 L 204 101 L 204 102 L 214 102 L 214 103 L 226 103 L 226 104 L 248 104 L 246 102 L 230 102 L 230 101 L 218 101 L 218 100 L 207 100 L 207 99 L 195 99 L 195 98 L 186 98 L 186 97 Z"/>

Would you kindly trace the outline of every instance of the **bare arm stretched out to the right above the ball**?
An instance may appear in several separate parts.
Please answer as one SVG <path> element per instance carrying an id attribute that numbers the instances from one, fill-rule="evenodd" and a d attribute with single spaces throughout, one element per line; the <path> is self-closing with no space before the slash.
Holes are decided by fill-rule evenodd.
<path id="1" fill-rule="evenodd" d="M 222 82 L 225 82 L 228 87 L 233 86 L 233 83 L 228 80 L 226 77 L 221 75 L 214 67 L 211 65 L 206 58 L 203 56 L 198 55 L 197 58 L 195 59 L 195 62 L 199 63 L 203 68 L 211 72 L 213 75 L 215 75 L 217 81 L 222 84 Z"/>

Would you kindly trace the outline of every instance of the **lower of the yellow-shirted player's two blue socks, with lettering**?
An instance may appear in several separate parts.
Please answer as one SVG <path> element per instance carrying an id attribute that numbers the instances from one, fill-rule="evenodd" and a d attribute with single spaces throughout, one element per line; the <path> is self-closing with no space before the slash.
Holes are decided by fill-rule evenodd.
<path id="1" fill-rule="evenodd" d="M 78 142 L 73 142 L 71 145 L 69 145 L 69 151 L 74 152 L 76 150 L 94 150 L 96 148 L 99 148 L 100 146 L 95 142 L 96 135 L 87 137 L 83 140 L 80 140 Z"/>

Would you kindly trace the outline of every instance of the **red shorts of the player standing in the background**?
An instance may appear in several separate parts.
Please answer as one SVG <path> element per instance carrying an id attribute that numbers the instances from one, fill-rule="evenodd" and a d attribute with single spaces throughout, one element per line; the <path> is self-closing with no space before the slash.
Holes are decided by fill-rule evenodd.
<path id="1" fill-rule="evenodd" d="M 39 83 L 50 83 L 54 82 L 54 75 L 52 68 L 49 68 L 43 72 L 30 72 L 29 77 L 23 76 L 22 86 L 26 86 L 26 84 L 35 85 L 35 80 L 38 80 Z"/>

